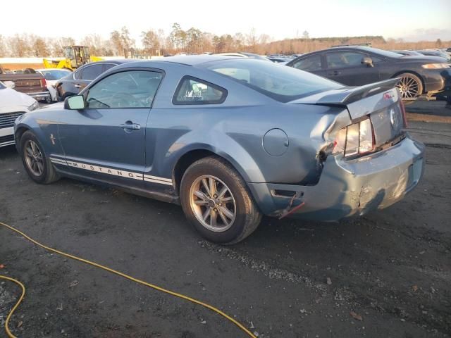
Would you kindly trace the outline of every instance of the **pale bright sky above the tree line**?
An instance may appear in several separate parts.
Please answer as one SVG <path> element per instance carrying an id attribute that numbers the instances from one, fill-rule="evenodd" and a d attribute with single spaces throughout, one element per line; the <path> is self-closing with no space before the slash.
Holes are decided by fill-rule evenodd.
<path id="1" fill-rule="evenodd" d="M 70 8 L 73 6 L 73 8 Z M 222 35 L 266 33 L 273 39 L 302 36 L 383 35 L 406 41 L 451 40 L 451 0 L 2 0 L 0 35 L 32 33 L 44 37 L 89 34 L 109 37 L 127 26 L 139 42 L 143 30 L 173 23 Z"/>

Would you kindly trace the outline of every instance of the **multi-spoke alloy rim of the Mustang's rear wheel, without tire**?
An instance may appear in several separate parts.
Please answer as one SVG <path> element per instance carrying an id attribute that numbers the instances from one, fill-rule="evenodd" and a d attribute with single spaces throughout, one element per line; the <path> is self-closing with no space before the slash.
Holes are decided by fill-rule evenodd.
<path id="1" fill-rule="evenodd" d="M 223 181 L 211 175 L 202 175 L 192 182 L 190 206 L 199 223 L 214 232 L 230 229 L 236 218 L 232 192 Z"/>

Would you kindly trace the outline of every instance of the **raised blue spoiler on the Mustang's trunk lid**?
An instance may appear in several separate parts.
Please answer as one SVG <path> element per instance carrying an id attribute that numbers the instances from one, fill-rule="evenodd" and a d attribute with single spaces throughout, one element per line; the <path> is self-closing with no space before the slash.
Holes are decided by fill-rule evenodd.
<path id="1" fill-rule="evenodd" d="M 365 84 L 360 87 L 352 87 L 345 89 L 340 92 L 334 92 L 332 94 L 325 95 L 321 97 L 316 104 L 331 104 L 331 105 L 348 105 L 355 101 L 365 99 L 366 97 L 379 94 L 381 92 L 387 92 L 390 89 L 396 87 L 399 78 L 385 80 L 381 82 L 375 82 L 370 84 Z"/>

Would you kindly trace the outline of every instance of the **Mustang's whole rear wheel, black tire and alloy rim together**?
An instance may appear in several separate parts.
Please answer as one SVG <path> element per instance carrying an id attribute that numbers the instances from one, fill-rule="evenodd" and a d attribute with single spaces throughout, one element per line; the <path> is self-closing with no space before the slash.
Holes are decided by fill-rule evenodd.
<path id="1" fill-rule="evenodd" d="M 216 156 L 202 158 L 187 168 L 180 184 L 180 201 L 190 223 L 215 243 L 240 242 L 261 220 L 245 181 Z"/>

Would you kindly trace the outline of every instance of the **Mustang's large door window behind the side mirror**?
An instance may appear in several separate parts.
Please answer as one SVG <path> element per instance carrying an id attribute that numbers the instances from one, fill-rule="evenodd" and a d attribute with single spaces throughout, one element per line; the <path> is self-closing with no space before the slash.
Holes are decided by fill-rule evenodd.
<path id="1" fill-rule="evenodd" d="M 100 80 L 87 93 L 88 108 L 150 108 L 162 73 L 128 70 Z"/>

